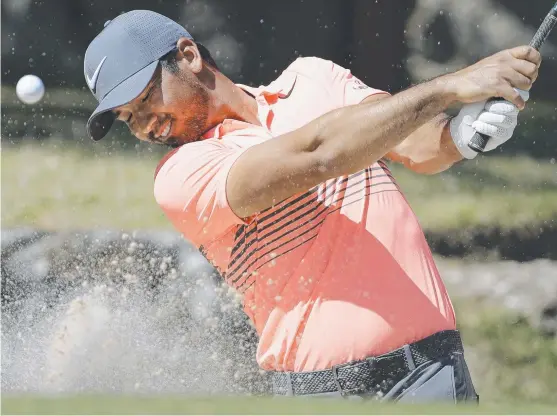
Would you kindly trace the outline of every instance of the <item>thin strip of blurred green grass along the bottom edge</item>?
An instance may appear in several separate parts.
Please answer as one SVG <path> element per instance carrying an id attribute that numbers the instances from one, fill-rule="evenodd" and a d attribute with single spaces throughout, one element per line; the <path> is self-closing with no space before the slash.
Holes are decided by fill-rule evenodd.
<path id="1" fill-rule="evenodd" d="M 385 405 L 339 399 L 77 396 L 11 398 L 2 414 L 553 414 L 555 407 L 518 402 L 469 405 Z"/>

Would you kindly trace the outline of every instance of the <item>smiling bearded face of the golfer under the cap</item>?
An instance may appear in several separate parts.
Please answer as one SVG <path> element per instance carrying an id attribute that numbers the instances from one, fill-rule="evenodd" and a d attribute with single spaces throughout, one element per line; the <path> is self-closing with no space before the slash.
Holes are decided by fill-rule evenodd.
<path id="1" fill-rule="evenodd" d="M 209 94 L 184 60 L 176 71 L 161 64 L 143 92 L 114 110 L 140 140 L 178 146 L 198 140 L 207 130 Z"/>

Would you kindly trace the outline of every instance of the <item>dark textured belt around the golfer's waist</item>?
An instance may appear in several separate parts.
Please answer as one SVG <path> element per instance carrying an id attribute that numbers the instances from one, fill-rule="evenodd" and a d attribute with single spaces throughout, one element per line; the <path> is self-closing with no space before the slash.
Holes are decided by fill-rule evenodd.
<path id="1" fill-rule="evenodd" d="M 417 366 L 462 353 L 458 331 L 441 331 L 378 357 L 307 372 L 273 372 L 273 392 L 282 396 L 385 391 Z"/>

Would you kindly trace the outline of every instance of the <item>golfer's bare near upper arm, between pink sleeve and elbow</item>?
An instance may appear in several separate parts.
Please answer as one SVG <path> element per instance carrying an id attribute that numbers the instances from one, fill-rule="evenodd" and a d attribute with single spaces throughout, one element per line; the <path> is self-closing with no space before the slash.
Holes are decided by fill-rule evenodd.
<path id="1" fill-rule="evenodd" d="M 235 214 L 247 218 L 326 179 L 313 151 L 312 124 L 246 150 L 232 165 L 226 193 Z"/>

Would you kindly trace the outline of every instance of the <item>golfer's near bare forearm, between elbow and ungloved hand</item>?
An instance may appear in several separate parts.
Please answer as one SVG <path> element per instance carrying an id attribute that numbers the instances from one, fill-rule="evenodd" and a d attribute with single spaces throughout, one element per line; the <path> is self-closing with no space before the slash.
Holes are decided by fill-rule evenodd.
<path id="1" fill-rule="evenodd" d="M 314 152 L 329 175 L 354 173 L 384 157 L 452 101 L 444 80 L 437 78 L 377 102 L 336 110 L 318 120 Z"/>

